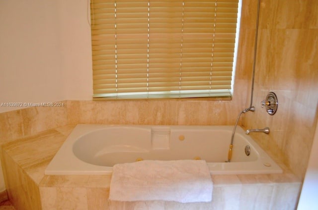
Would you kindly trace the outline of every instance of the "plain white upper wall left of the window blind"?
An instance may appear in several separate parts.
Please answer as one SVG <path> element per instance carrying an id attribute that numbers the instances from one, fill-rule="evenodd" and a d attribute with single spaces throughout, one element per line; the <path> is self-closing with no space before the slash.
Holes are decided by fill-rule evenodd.
<path id="1" fill-rule="evenodd" d="M 0 0 L 0 105 L 91 99 L 87 2 Z"/>

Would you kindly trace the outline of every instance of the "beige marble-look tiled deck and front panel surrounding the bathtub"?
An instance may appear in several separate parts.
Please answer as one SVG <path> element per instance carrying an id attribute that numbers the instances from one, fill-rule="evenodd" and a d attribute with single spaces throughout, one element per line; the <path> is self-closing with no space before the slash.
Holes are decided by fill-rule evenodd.
<path id="1" fill-rule="evenodd" d="M 283 174 L 212 175 L 210 203 L 108 202 L 110 175 L 44 175 L 75 125 L 49 129 L 2 146 L 8 197 L 17 210 L 296 209 L 301 181 L 283 164 Z M 278 160 L 278 159 L 276 159 Z"/>

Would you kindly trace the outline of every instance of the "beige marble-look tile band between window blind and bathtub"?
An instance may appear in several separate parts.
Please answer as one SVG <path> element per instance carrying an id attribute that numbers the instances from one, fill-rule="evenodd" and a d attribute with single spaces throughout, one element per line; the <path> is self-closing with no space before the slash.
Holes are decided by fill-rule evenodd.
<path id="1" fill-rule="evenodd" d="M 240 100 L 239 97 L 236 99 Z M 205 100 L 72 101 L 68 103 L 68 114 L 72 123 L 227 125 L 236 120 L 236 116 L 228 114 L 227 110 L 239 113 L 235 103 Z M 70 115 L 74 115 L 77 108 L 79 112 L 73 118 Z"/>

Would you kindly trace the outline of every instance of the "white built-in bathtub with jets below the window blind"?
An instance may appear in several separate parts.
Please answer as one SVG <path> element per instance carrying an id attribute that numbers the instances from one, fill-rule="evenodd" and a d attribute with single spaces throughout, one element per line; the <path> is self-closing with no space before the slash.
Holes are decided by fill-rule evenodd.
<path id="1" fill-rule="evenodd" d="M 111 174 L 117 163 L 143 159 L 204 159 L 211 174 L 282 173 L 282 169 L 237 127 L 79 124 L 45 170 L 46 175 Z M 265 135 L 259 133 L 258 135 Z M 245 147 L 250 154 L 245 154 Z"/>

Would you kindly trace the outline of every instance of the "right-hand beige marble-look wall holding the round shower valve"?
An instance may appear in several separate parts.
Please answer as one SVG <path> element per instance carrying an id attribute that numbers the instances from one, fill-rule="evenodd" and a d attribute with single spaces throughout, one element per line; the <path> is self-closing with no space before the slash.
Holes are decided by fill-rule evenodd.
<path id="1" fill-rule="evenodd" d="M 254 113 L 243 116 L 248 129 L 270 127 L 269 135 L 251 134 L 273 155 L 280 154 L 304 178 L 317 123 L 318 1 L 262 0 L 254 82 Z M 278 97 L 275 115 L 260 102 Z"/>

